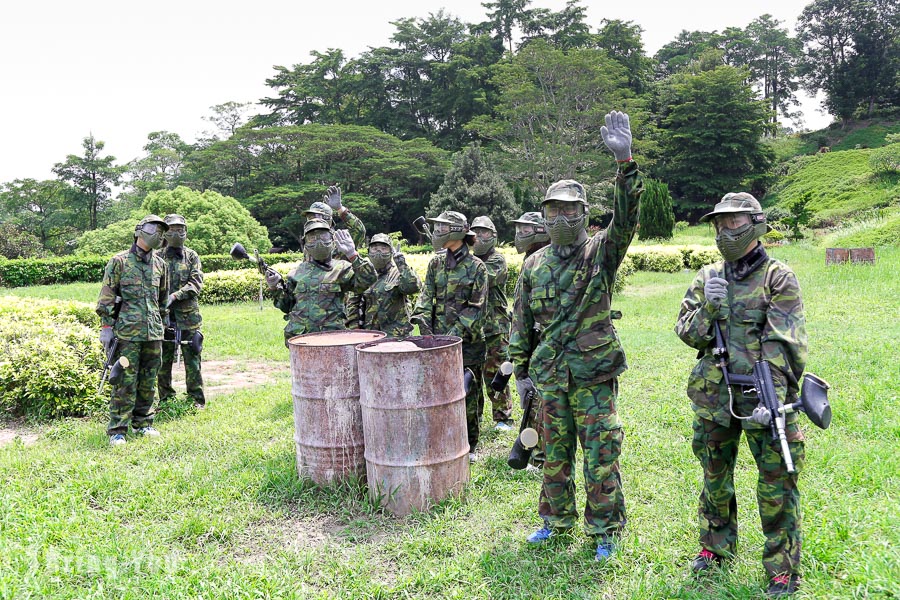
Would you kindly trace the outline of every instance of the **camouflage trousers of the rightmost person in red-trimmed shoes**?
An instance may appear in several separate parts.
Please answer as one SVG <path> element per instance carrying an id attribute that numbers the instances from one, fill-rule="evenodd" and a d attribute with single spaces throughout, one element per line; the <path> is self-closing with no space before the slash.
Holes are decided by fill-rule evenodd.
<path id="1" fill-rule="evenodd" d="M 770 577 L 797 573 L 800 568 L 802 539 L 797 475 L 806 455 L 796 415 L 786 429 L 797 470 L 793 474 L 787 472 L 781 457 L 781 445 L 772 440 L 768 428 L 744 430 L 759 471 L 756 500 L 766 536 L 763 567 Z M 706 419 L 694 420 L 692 446 L 703 467 L 699 508 L 700 545 L 719 556 L 733 556 L 737 551 L 734 465 L 740 439 L 741 424 L 737 419 L 732 419 L 729 427 Z"/>

